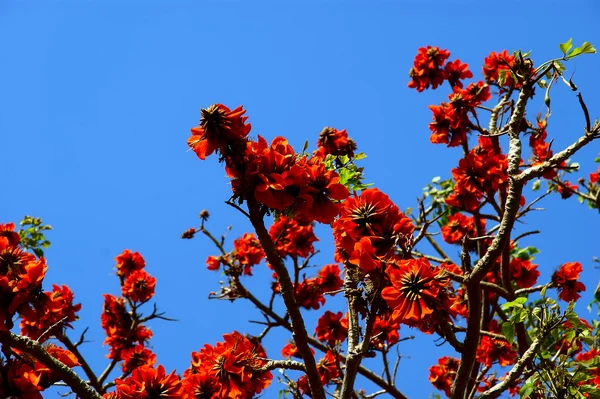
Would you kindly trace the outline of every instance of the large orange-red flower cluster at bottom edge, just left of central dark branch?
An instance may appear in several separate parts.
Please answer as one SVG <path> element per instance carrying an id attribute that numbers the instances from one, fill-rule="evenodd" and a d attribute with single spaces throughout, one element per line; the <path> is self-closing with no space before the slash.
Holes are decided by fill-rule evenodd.
<path id="1" fill-rule="evenodd" d="M 266 363 L 259 343 L 238 332 L 223 338 L 224 342 L 206 344 L 192 353 L 182 380 L 184 398 L 251 399 L 271 383 L 271 372 L 259 371 Z"/>

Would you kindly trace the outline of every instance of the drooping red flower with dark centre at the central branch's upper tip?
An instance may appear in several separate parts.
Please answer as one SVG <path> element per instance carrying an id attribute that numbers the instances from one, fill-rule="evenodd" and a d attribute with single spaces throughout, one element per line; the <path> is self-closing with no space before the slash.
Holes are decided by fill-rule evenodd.
<path id="1" fill-rule="evenodd" d="M 251 129 L 245 113 L 241 106 L 232 111 L 223 104 L 202 109 L 200 125 L 191 129 L 188 145 L 202 160 L 215 151 L 220 151 L 222 158 L 243 153 Z"/>

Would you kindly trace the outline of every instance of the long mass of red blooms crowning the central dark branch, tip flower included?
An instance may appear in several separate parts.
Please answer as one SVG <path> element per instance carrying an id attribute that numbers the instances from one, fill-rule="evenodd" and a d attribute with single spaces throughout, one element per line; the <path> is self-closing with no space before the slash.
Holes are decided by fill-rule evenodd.
<path id="1" fill-rule="evenodd" d="M 260 136 L 257 141 L 249 140 L 250 125 L 244 113 L 241 107 L 230 111 L 222 104 L 203 109 L 188 144 L 200 159 L 216 150 L 221 153 L 234 198 L 278 211 L 292 207 L 307 220 L 333 222 L 340 208 L 336 201 L 348 196 L 338 174 L 327 170 L 319 155 L 307 159 L 296 154 L 283 137 L 276 137 L 270 146 Z"/>

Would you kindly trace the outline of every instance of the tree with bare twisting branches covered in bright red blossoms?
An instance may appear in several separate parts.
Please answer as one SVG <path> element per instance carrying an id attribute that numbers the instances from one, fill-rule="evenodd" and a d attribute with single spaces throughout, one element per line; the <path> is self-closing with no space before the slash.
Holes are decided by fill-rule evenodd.
<path id="1" fill-rule="evenodd" d="M 448 179 L 433 179 L 417 204 L 404 204 L 415 211 L 401 211 L 365 182 L 358 165 L 365 155 L 346 130 L 326 127 L 316 150 L 297 151 L 284 137 L 252 136 L 242 107 L 203 109 L 188 145 L 199 159 L 214 154 L 224 164 L 227 203 L 253 231 L 226 242 L 208 230 L 202 211 L 200 225 L 182 238 L 204 235 L 214 244 L 206 266 L 223 278 L 211 296 L 249 301 L 264 330 L 205 344 L 179 372 L 165 370 L 151 350 L 148 322 L 169 319 L 149 305 L 157 282 L 141 254 L 115 258 L 121 295 L 104 296 L 109 360 L 98 372 L 79 350 L 84 336 L 69 337 L 81 308 L 73 292 L 65 285 L 44 291 L 49 226 L 31 217 L 20 229 L 1 224 L 0 397 L 36 399 L 61 385 L 85 399 L 250 399 L 267 388 L 293 398 L 406 398 L 395 355 L 409 339 L 400 338 L 404 325 L 453 349 L 429 369 L 433 387 L 452 399 L 600 398 L 600 320 L 574 311 L 586 290 L 582 265 L 574 255 L 539 281 L 538 249 L 527 239 L 540 232 L 515 226 L 555 193 L 600 209 L 600 168 L 569 180 L 579 176 L 570 159 L 600 138 L 581 93 L 582 133 L 553 148 L 549 129 L 551 89 L 564 83 L 577 91 L 565 77 L 568 61 L 595 50 L 570 40 L 560 50 L 540 64 L 528 53 L 492 52 L 482 80 L 469 82 L 473 71 L 449 60 L 449 51 L 419 49 L 408 86 L 449 91 L 429 107 L 430 140 L 457 147 L 449 149 L 457 165 Z M 546 113 L 529 115 L 542 96 Z M 316 223 L 331 227 L 335 248 L 334 263 L 314 268 Z M 247 287 L 257 267 L 273 272 L 268 293 Z M 328 308 L 336 295 L 346 299 L 343 311 Z M 599 302 L 596 289 L 596 310 Z M 289 333 L 281 353 L 262 346 L 275 329 Z M 366 367 L 366 358 L 378 363 Z"/>

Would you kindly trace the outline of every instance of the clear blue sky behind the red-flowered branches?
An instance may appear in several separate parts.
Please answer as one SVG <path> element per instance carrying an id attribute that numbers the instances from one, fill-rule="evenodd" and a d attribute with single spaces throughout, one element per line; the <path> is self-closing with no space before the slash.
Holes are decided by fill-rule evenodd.
<path id="1" fill-rule="evenodd" d="M 448 48 L 476 74 L 492 50 L 534 50 L 539 64 L 558 56 L 558 43 L 569 37 L 600 46 L 598 15 L 592 1 L 4 0 L 0 219 L 18 222 L 30 214 L 54 227 L 46 286 L 68 284 L 83 304 L 76 333 L 90 327 L 84 352 L 98 372 L 106 364 L 102 294 L 118 293 L 113 258 L 125 248 L 141 252 L 158 278 L 159 308 L 179 320 L 153 323 L 152 346 L 167 369 L 183 371 L 192 350 L 234 329 L 256 332 L 247 320 L 260 319 L 241 301 L 209 302 L 219 275 L 204 261 L 215 248 L 200 237 L 179 239 L 205 208 L 214 233 L 233 225 L 233 239 L 249 229 L 223 203 L 230 189 L 221 165 L 187 151 L 201 107 L 243 104 L 252 134 L 284 135 L 297 148 L 306 139 L 314 146 L 324 126 L 346 128 L 369 155 L 367 179 L 405 209 L 432 177 L 447 178 L 460 156 L 429 143 L 426 107 L 443 101 L 447 88 L 419 95 L 406 87 L 417 48 Z M 572 63 L 594 116 L 600 116 L 599 57 Z M 548 129 L 553 148 L 583 128 L 574 95 L 562 87 L 557 93 Z M 539 101 L 530 112 L 543 110 Z M 595 168 L 598 152 L 597 143 L 582 152 L 583 170 Z M 540 245 L 543 275 L 580 261 L 592 290 L 599 216 L 576 201 L 551 199 L 543 206 L 550 211 L 522 227 L 543 230 L 528 242 Z M 319 261 L 329 263 L 330 234 L 321 232 Z M 266 271 L 249 281 L 263 293 L 269 283 Z M 268 354 L 278 357 L 278 342 L 286 338 L 267 341 Z M 427 368 L 449 351 L 430 337 L 400 350 L 408 356 L 400 389 L 427 397 Z"/>

